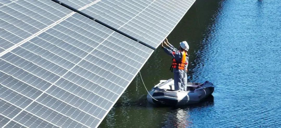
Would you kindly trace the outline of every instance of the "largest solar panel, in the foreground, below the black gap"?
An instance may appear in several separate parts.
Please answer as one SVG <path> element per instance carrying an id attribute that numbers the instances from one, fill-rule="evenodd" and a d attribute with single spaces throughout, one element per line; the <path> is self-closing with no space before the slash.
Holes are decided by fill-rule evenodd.
<path id="1" fill-rule="evenodd" d="M 0 57 L 2 107 L 15 108 L 0 113 L 25 127 L 97 127 L 152 52 L 76 13 Z"/>

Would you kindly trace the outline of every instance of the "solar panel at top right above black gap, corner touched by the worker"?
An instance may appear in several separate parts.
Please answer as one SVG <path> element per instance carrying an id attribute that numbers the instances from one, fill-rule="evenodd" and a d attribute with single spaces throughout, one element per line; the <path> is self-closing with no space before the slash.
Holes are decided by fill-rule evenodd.
<path id="1" fill-rule="evenodd" d="M 81 12 L 157 48 L 194 2 L 195 0 L 101 0 Z"/>

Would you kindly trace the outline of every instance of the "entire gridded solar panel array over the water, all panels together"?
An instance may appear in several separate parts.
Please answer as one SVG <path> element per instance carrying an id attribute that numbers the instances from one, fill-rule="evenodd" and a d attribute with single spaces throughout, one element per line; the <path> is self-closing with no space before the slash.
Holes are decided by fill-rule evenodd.
<path id="1" fill-rule="evenodd" d="M 171 25 L 156 17 L 170 19 L 176 0 L 162 11 L 160 1 L 62 2 L 155 48 L 188 10 Z M 0 11 L 0 127 L 98 127 L 153 53 L 51 0 L 0 0 Z"/>

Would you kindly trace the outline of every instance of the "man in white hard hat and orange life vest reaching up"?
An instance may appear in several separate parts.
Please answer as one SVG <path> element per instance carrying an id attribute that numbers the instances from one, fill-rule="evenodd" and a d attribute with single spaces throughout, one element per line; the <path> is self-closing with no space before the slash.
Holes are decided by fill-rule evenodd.
<path id="1" fill-rule="evenodd" d="M 166 42 L 167 41 L 167 42 Z M 163 43 L 168 47 L 164 47 Z M 187 65 L 188 65 L 188 55 L 187 51 L 189 46 L 186 41 L 180 42 L 179 50 L 177 50 L 173 45 L 168 42 L 166 38 L 162 42 L 163 50 L 173 57 L 173 63 L 170 70 L 174 73 L 174 85 L 175 90 L 187 91 Z"/>

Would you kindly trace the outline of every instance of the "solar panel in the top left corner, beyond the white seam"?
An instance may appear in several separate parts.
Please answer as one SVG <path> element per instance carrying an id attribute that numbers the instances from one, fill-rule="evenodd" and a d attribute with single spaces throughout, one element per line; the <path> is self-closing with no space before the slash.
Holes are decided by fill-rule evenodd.
<path id="1" fill-rule="evenodd" d="M 0 51 L 62 19 L 72 11 L 51 0 L 0 1 Z"/>

